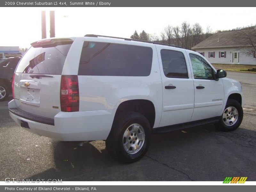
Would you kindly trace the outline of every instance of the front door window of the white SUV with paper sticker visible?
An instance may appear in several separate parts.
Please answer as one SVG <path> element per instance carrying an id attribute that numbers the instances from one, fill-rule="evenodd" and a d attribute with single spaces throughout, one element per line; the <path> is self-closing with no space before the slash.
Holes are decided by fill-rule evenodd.
<path id="1" fill-rule="evenodd" d="M 213 79 L 212 77 L 212 68 L 210 65 L 200 56 L 189 54 L 193 73 L 195 78 L 200 79 Z"/>

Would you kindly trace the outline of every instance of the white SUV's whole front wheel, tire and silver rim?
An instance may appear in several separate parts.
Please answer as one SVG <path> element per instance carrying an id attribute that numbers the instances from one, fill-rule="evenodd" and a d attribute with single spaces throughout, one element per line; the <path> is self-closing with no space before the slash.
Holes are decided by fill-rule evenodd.
<path id="1" fill-rule="evenodd" d="M 237 100 L 229 99 L 217 127 L 221 131 L 234 131 L 242 123 L 243 108 Z"/>

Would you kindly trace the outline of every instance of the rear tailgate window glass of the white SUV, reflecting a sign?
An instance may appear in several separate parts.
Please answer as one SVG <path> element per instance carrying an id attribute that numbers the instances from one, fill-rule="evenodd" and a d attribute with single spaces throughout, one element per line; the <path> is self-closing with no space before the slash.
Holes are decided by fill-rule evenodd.
<path id="1" fill-rule="evenodd" d="M 16 73 L 61 75 L 70 46 L 30 47 L 21 58 Z"/>

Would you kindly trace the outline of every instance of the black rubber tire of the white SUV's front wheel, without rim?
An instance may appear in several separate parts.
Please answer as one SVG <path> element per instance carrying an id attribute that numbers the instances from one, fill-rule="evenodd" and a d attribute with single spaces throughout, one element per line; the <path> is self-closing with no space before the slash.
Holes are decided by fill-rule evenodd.
<path id="1" fill-rule="evenodd" d="M 225 112 L 225 110 L 228 107 L 235 107 L 237 109 L 238 118 L 237 118 L 237 120 L 236 120 L 236 122 L 234 124 L 228 126 L 228 125 L 226 125 L 224 123 L 225 118 L 223 120 L 223 116 L 221 115 L 220 121 L 217 124 L 215 124 L 217 126 L 217 128 L 219 128 L 220 131 L 234 131 L 242 123 L 243 116 L 244 116 L 244 111 L 243 111 L 243 108 L 242 108 L 241 104 L 237 100 L 228 99 L 226 107 L 225 107 L 223 113 Z"/>

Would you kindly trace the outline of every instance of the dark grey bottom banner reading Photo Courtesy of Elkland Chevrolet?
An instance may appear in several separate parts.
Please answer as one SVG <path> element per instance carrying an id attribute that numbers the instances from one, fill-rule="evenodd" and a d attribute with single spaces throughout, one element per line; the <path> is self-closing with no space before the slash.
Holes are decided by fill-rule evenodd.
<path id="1" fill-rule="evenodd" d="M 137 183 L 138 184 L 138 183 Z M 224 185 L 224 184 L 223 184 Z M 9 192 L 131 192 L 131 191 L 147 191 L 147 192 L 171 192 L 171 191 L 207 191 L 207 192 L 216 192 L 216 191 L 232 191 L 232 192 L 240 192 L 240 191 L 254 191 L 255 186 L 250 185 L 215 185 L 215 186 L 173 186 L 173 185 L 160 185 L 160 186 L 141 186 L 141 185 L 126 185 L 126 186 L 116 186 L 116 185 L 88 185 L 88 186 L 52 186 L 52 185 L 44 185 L 44 186 L 0 186 L 0 191 L 9 191 Z"/>

